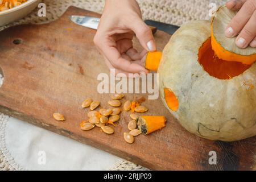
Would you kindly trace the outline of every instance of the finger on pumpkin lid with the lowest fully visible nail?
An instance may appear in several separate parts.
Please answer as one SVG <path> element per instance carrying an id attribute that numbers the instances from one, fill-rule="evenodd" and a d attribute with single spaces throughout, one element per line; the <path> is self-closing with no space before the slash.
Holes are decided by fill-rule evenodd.
<path id="1" fill-rule="evenodd" d="M 250 20 L 246 23 L 241 33 L 237 36 L 236 44 L 240 48 L 246 48 L 256 37 L 256 11 L 254 11 Z M 251 47 L 255 47 L 254 43 L 251 43 Z"/>

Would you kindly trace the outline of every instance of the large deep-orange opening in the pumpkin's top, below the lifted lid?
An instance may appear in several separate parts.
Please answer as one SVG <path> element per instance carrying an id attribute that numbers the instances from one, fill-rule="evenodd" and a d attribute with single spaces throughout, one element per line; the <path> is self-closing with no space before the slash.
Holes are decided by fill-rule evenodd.
<path id="1" fill-rule="evenodd" d="M 207 39 L 199 49 L 199 63 L 210 76 L 228 80 L 238 76 L 251 67 L 236 61 L 225 61 L 219 59 L 212 49 L 211 39 Z"/>

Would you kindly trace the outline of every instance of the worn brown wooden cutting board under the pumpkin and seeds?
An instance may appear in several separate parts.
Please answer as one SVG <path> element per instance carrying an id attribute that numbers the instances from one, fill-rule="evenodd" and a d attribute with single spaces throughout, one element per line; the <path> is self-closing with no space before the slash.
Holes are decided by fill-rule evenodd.
<path id="1" fill-rule="evenodd" d="M 88 119 L 88 109 L 81 109 L 85 98 L 99 100 L 102 107 L 108 107 L 110 96 L 97 92 L 97 76 L 109 74 L 109 69 L 93 44 L 96 31 L 72 23 L 70 15 L 100 16 L 69 7 L 55 22 L 15 26 L 0 32 L 0 67 L 5 77 L 0 88 L 0 112 L 150 169 L 256 169 L 255 137 L 230 143 L 196 137 L 179 125 L 160 100 L 147 100 L 143 105 L 149 109 L 147 114 L 165 115 L 167 126 L 147 137 L 139 135 L 133 144 L 123 139 L 130 120 L 126 111 L 113 135 L 100 128 L 80 130 L 80 122 Z M 158 31 L 155 39 L 163 49 L 170 35 Z M 139 48 L 137 40 L 134 44 Z M 125 99 L 141 96 L 126 94 Z M 55 112 L 63 113 L 66 121 L 55 121 Z M 210 151 L 217 152 L 217 165 L 208 163 Z"/>

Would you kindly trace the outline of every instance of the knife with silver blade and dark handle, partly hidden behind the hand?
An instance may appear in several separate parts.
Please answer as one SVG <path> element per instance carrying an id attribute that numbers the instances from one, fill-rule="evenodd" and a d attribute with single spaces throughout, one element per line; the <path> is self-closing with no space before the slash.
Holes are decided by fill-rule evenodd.
<path id="1" fill-rule="evenodd" d="M 72 15 L 69 18 L 71 19 L 72 22 L 79 24 L 80 26 L 92 28 L 94 30 L 98 29 L 98 24 L 100 23 L 100 18 L 95 18 L 92 16 Z M 150 26 L 153 34 L 156 32 L 158 28 L 159 30 L 167 32 L 168 34 L 174 34 L 174 32 L 179 28 L 178 26 L 174 26 L 172 24 L 156 22 L 154 20 L 146 20 L 145 23 L 148 26 Z"/>

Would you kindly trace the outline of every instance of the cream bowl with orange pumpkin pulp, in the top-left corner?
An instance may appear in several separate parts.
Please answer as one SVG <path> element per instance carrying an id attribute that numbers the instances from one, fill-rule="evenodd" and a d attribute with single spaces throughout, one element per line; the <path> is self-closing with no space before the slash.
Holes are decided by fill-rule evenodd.
<path id="1" fill-rule="evenodd" d="M 28 0 L 12 9 L 0 11 L 0 26 L 14 22 L 17 19 L 28 15 L 38 6 L 38 1 L 39 0 Z"/>

